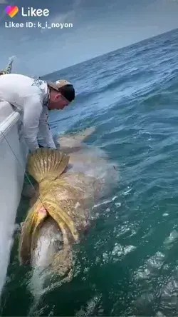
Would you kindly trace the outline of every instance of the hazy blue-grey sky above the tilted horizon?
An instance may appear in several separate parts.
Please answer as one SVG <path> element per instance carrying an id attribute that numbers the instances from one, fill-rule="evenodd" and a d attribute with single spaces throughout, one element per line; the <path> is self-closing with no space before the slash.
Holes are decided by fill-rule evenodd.
<path id="1" fill-rule="evenodd" d="M 15 56 L 15 72 L 43 76 L 177 28 L 178 0 L 0 0 L 0 69 Z"/>

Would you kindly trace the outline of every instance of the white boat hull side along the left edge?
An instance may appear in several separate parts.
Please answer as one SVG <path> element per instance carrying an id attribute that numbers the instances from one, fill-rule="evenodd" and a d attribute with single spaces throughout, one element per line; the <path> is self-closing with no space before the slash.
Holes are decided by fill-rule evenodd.
<path id="1" fill-rule="evenodd" d="M 0 296 L 12 246 L 28 150 L 19 140 L 20 116 L 6 101 L 0 102 Z"/>

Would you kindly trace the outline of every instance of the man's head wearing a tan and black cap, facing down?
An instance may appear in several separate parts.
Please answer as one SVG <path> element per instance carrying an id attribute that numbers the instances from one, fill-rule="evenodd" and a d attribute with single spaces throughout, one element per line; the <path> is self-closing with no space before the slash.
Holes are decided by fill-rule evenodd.
<path id="1" fill-rule="evenodd" d="M 50 96 L 48 109 L 63 109 L 75 99 L 75 89 L 73 85 L 64 79 L 56 81 L 56 83 L 48 82 Z"/>

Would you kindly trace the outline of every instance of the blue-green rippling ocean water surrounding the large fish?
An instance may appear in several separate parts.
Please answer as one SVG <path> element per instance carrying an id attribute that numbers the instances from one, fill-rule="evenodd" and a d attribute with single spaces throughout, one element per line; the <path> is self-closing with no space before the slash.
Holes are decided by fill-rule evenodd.
<path id="1" fill-rule="evenodd" d="M 178 30 L 57 71 L 75 103 L 50 114 L 53 134 L 88 139 L 117 161 L 120 183 L 80 244 L 75 277 L 33 309 L 28 268 L 11 252 L 1 316 L 177 316 Z M 28 201 L 21 200 L 17 221 Z"/>

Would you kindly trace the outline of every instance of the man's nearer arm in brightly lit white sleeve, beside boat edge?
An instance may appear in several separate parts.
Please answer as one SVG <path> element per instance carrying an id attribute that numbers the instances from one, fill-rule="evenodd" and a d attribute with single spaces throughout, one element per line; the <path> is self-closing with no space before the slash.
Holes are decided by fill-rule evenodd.
<path id="1" fill-rule="evenodd" d="M 38 126 L 43 111 L 41 98 L 38 95 L 28 96 L 24 100 L 23 138 L 30 151 L 38 149 Z"/>

